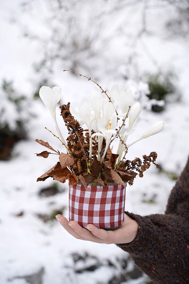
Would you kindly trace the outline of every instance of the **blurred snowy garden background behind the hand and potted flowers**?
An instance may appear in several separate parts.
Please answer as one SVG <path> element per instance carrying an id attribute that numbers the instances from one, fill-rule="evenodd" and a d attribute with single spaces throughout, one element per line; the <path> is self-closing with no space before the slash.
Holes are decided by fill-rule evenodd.
<path id="1" fill-rule="evenodd" d="M 0 283 L 152 283 L 116 245 L 74 239 L 55 219 L 68 217 L 68 183 L 36 179 L 56 163 L 36 157 L 48 141 L 60 149 L 42 85 L 62 87 L 77 106 L 97 90 L 131 88 L 141 112 L 131 142 L 164 120 L 161 133 L 133 145 L 128 159 L 156 151 L 144 178 L 126 187 L 125 209 L 163 213 L 188 155 L 188 0 L 1 1 Z M 58 114 L 64 137 L 67 129 Z M 118 142 L 117 142 L 118 143 Z"/>

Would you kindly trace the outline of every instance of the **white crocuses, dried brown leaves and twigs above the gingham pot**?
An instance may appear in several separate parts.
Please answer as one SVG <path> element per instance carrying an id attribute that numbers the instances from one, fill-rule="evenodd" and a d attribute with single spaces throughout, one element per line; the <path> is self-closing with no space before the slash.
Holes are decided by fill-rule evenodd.
<path id="1" fill-rule="evenodd" d="M 77 73 L 74 70 L 72 72 Z M 83 75 L 79 74 L 79 76 Z M 93 81 L 91 78 L 84 77 Z M 156 152 L 150 153 L 149 156 L 144 155 L 143 162 L 140 158 L 135 158 L 133 161 L 126 160 L 126 154 L 128 148 L 136 142 L 159 133 L 164 127 L 164 122 L 157 122 L 137 140 L 127 144 L 127 137 L 135 131 L 132 127 L 139 115 L 140 103 L 136 102 L 132 105 L 131 90 L 119 89 L 118 85 L 114 85 L 107 92 L 98 83 L 96 84 L 101 91 L 93 91 L 90 94 L 90 103 L 83 100 L 78 105 L 78 110 L 75 110 L 70 103 L 60 105 L 61 115 L 69 133 L 66 140 L 58 127 L 55 113 L 56 105 L 60 102 L 61 88 L 41 87 L 39 95 L 51 112 L 59 137 L 53 135 L 61 141 L 67 153 L 60 153 L 48 142 L 36 139 L 36 142 L 59 155 L 57 164 L 37 181 L 53 177 L 54 180 L 62 183 L 69 179 L 71 185 L 81 182 L 85 188 L 91 183 L 100 183 L 105 187 L 108 183 L 125 186 L 126 183 L 132 185 L 137 174 L 142 177 L 151 163 L 158 168 L 155 163 Z M 121 109 L 121 114 L 118 114 L 116 110 L 117 105 Z M 128 116 L 128 127 L 125 129 Z M 82 128 L 84 124 L 87 126 L 85 130 Z M 119 138 L 119 147 L 115 154 L 112 153 L 111 144 L 116 138 Z M 43 151 L 37 156 L 47 158 L 49 154 L 52 153 Z"/>

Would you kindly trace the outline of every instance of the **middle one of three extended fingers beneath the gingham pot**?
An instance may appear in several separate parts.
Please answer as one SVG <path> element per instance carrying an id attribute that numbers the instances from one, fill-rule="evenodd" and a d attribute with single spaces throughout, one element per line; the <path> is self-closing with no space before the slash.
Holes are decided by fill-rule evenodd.
<path id="1" fill-rule="evenodd" d="M 104 239 L 100 239 L 93 235 L 90 231 L 82 228 L 76 221 L 70 221 L 69 225 L 73 227 L 74 231 L 82 238 L 85 239 L 86 241 L 91 241 L 95 243 L 109 243 L 106 242 Z"/>

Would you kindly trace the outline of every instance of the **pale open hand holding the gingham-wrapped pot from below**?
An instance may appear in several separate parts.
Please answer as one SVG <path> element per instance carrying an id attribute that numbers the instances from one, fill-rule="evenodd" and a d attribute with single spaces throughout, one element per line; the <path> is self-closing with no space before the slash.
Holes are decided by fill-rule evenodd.
<path id="1" fill-rule="evenodd" d="M 76 239 L 104 244 L 123 244 L 132 242 L 138 233 L 137 221 L 125 214 L 123 225 L 114 231 L 98 229 L 92 224 L 87 225 L 87 229 L 82 228 L 76 221 L 70 221 L 58 214 L 56 219 L 62 227 Z"/>

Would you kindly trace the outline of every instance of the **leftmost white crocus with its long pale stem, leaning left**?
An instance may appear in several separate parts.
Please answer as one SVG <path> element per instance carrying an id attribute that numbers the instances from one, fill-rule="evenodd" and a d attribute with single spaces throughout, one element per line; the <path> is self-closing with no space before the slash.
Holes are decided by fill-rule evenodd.
<path id="1" fill-rule="evenodd" d="M 51 115 L 54 120 L 54 124 L 56 126 L 56 131 L 58 132 L 58 135 L 60 136 L 61 141 L 64 143 L 67 153 L 70 153 L 68 149 L 68 145 L 66 141 L 64 140 L 62 133 L 58 127 L 57 121 L 56 121 L 56 105 L 60 101 L 61 92 L 62 92 L 62 89 L 59 87 L 53 87 L 53 89 L 51 89 L 50 87 L 42 86 L 39 90 L 39 96 L 41 100 L 43 101 L 43 103 L 47 106 L 47 108 L 51 112 Z"/>

